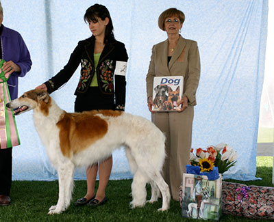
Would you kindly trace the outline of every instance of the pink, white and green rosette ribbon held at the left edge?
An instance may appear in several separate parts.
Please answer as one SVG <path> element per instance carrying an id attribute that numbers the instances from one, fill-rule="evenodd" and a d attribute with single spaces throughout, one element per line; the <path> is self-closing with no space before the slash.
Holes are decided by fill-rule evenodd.
<path id="1" fill-rule="evenodd" d="M 11 148 L 20 145 L 20 139 L 15 122 L 14 113 L 5 105 L 10 102 L 8 79 L 2 70 L 5 60 L 0 59 L 0 149 Z"/>

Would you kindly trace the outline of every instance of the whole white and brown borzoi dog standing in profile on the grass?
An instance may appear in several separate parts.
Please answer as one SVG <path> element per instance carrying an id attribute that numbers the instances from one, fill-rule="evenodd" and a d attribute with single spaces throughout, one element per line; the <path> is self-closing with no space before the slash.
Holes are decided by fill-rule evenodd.
<path id="1" fill-rule="evenodd" d="M 25 92 L 7 107 L 14 109 L 15 115 L 34 109 L 34 126 L 58 171 L 58 203 L 49 208 L 49 214 L 58 214 L 69 207 L 75 167 L 88 167 L 102 161 L 122 145 L 134 174 L 130 206 L 145 206 L 145 186 L 150 183 L 148 202 L 156 202 L 161 192 L 162 208 L 158 210 L 169 209 L 169 186 L 161 176 L 165 137 L 149 120 L 111 110 L 66 113 L 47 92 L 39 89 Z"/>

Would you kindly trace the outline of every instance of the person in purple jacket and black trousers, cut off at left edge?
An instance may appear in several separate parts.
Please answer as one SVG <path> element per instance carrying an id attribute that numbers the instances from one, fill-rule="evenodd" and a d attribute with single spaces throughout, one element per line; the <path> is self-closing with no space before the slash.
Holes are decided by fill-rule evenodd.
<path id="1" fill-rule="evenodd" d="M 0 59 L 8 79 L 8 88 L 12 100 L 18 96 L 18 77 L 24 77 L 32 66 L 29 51 L 17 31 L 2 24 L 3 8 L 0 2 Z M 0 206 L 10 205 L 10 188 L 12 185 L 12 148 L 0 147 Z"/>

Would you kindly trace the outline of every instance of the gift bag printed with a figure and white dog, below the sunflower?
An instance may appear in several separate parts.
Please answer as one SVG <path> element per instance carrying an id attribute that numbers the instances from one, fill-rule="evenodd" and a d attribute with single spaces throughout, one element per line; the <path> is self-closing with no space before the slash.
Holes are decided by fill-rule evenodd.
<path id="1" fill-rule="evenodd" d="M 182 217 L 219 220 L 222 213 L 222 177 L 208 180 L 207 176 L 184 174 L 181 193 Z"/>

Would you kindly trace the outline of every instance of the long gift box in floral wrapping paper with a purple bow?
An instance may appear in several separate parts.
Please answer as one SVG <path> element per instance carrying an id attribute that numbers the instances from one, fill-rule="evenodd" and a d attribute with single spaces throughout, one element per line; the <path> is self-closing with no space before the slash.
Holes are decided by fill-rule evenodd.
<path id="1" fill-rule="evenodd" d="M 223 182 L 224 214 L 250 219 L 274 219 L 274 187 Z"/>

